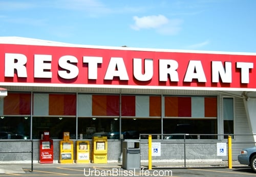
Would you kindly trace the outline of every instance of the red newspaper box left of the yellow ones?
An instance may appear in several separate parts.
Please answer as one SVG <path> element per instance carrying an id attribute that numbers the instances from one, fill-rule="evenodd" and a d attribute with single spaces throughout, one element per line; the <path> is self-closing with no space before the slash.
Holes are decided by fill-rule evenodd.
<path id="1" fill-rule="evenodd" d="M 39 163 L 53 163 L 53 140 L 49 132 L 44 132 L 39 143 Z"/>

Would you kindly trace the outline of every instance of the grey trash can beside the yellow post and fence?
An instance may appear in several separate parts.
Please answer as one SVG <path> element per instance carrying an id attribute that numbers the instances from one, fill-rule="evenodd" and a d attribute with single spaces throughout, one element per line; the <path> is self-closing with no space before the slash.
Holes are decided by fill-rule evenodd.
<path id="1" fill-rule="evenodd" d="M 122 149 L 122 168 L 126 170 L 140 169 L 140 142 L 124 140 Z"/>

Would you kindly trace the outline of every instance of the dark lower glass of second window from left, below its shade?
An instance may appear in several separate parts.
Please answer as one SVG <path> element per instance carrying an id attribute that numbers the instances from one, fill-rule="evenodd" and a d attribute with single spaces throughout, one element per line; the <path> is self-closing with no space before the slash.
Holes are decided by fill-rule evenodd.
<path id="1" fill-rule="evenodd" d="M 75 117 L 33 117 L 32 138 L 41 139 L 44 131 L 51 139 L 63 139 L 63 132 L 70 132 L 70 139 L 76 139 Z"/>

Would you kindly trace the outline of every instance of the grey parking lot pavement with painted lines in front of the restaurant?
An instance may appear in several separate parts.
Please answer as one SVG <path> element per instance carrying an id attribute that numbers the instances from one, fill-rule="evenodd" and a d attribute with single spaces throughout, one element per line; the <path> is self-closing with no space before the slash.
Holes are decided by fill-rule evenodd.
<path id="1" fill-rule="evenodd" d="M 179 169 L 122 169 L 119 163 L 108 164 L 0 164 L 1 176 L 256 176 L 246 168 L 179 168 Z"/>

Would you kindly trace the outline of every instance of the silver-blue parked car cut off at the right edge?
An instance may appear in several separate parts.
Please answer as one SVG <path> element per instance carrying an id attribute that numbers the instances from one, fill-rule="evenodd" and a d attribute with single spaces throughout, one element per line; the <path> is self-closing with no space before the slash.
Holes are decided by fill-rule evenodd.
<path id="1" fill-rule="evenodd" d="M 249 165 L 256 172 L 256 146 L 242 149 L 238 161 L 243 165 Z"/>

